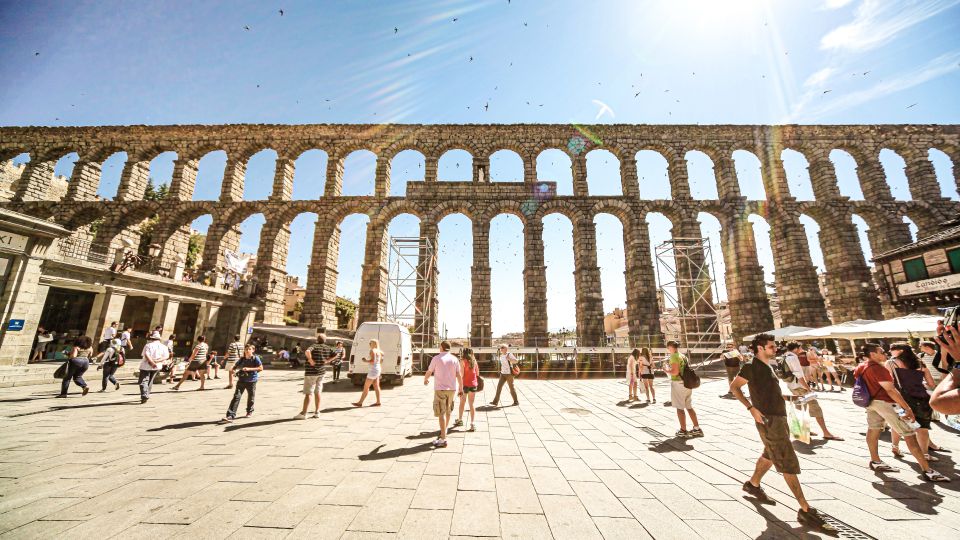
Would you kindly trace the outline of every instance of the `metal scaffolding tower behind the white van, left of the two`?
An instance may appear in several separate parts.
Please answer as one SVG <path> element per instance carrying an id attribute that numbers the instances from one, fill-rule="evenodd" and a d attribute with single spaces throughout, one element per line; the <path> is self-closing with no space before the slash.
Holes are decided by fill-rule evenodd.
<path id="1" fill-rule="evenodd" d="M 414 346 L 436 341 L 437 255 L 426 237 L 391 236 L 387 277 L 387 320 L 406 326 Z"/>

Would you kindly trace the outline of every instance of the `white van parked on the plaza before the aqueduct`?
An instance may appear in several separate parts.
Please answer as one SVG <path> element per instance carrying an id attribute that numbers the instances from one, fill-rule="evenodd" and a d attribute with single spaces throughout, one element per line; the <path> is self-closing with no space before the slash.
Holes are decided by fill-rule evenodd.
<path id="1" fill-rule="evenodd" d="M 383 351 L 383 365 L 380 367 L 380 381 L 403 384 L 404 377 L 413 375 L 413 343 L 407 327 L 390 322 L 366 322 L 360 325 L 353 337 L 350 348 L 350 368 L 347 375 L 354 385 L 363 384 L 370 371 L 366 358 L 370 352 L 370 340 L 380 342 Z"/>

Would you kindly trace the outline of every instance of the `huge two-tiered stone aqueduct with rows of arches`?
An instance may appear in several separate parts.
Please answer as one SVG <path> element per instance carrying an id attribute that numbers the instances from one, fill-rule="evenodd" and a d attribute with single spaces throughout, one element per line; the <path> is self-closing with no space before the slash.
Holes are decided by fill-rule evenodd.
<path id="1" fill-rule="evenodd" d="M 585 148 L 569 144 L 579 137 Z M 272 194 L 266 200 L 244 201 L 244 175 L 249 158 L 263 149 L 277 152 Z M 585 154 L 603 148 L 620 161 L 622 195 L 590 196 Z M 815 200 L 798 201 L 790 194 L 781 160 L 784 149 L 802 153 L 809 163 Z M 906 163 L 911 201 L 894 200 L 879 161 L 881 149 L 897 152 Z M 472 340 L 488 345 L 491 320 L 489 225 L 498 214 L 516 215 L 524 226 L 524 320 L 528 342 L 547 334 L 546 274 L 542 243 L 542 218 L 565 215 L 573 224 L 576 270 L 576 321 L 584 344 L 603 339 L 603 305 L 600 270 L 593 222 L 599 213 L 613 214 L 623 225 L 625 281 L 629 330 L 632 336 L 658 335 L 659 309 L 650 257 L 646 214 L 659 212 L 672 222 L 674 237 L 699 237 L 697 215 L 706 212 L 721 224 L 726 286 L 737 336 L 772 328 L 773 320 L 764 286 L 750 214 L 770 224 L 777 293 L 783 324 L 828 324 L 824 298 L 799 217 L 815 219 L 821 226 L 820 242 L 827 271 L 827 291 L 833 322 L 880 318 L 882 306 L 872 286 L 852 215 L 869 226 L 873 251 L 880 252 L 910 241 L 908 216 L 920 236 L 936 230 L 952 217 L 958 203 L 942 198 L 928 150 L 950 156 L 960 189 L 960 126 L 644 126 L 644 125 L 225 125 L 127 126 L 79 128 L 0 128 L 0 161 L 24 152 L 30 161 L 16 184 L 13 199 L 3 205 L 48 218 L 76 229 L 98 221 L 93 244 L 113 251 L 124 238 L 136 237 L 145 218 L 160 215 L 161 259 L 170 264 L 186 252 L 191 222 L 211 214 L 201 267 L 223 265 L 224 249 L 239 245 L 239 225 L 263 213 L 257 278 L 260 283 L 285 275 L 291 221 L 299 214 L 319 216 L 307 278 L 304 316 L 307 324 L 335 323 L 339 224 L 354 213 L 369 216 L 360 292 L 359 319 L 385 315 L 387 286 L 387 227 L 390 220 L 409 213 L 420 218 L 421 233 L 437 235 L 444 216 L 465 214 L 473 226 Z M 291 200 L 294 162 L 310 149 L 328 154 L 324 193 L 317 200 Z M 423 154 L 425 178 L 410 182 L 404 197 L 390 193 L 390 162 L 397 153 L 413 149 Z M 473 156 L 472 182 L 441 182 L 439 157 L 451 149 Z M 523 160 L 522 182 L 489 182 L 489 156 L 508 149 Z M 547 149 L 566 152 L 572 163 L 573 195 L 556 196 L 555 183 L 536 177 L 537 156 Z M 836 171 L 829 159 L 833 149 L 848 152 L 857 163 L 857 176 L 865 200 L 840 194 Z M 193 201 L 198 161 L 205 154 L 224 150 L 227 165 L 217 201 Z M 341 196 L 344 159 L 355 150 L 377 156 L 375 192 L 372 196 Z M 659 152 L 668 163 L 671 198 L 640 197 L 635 156 L 640 150 Z M 698 150 L 711 158 L 719 198 L 691 197 L 685 156 Z M 766 200 L 741 196 L 732 154 L 754 153 L 761 163 Z M 101 164 L 111 154 L 128 155 L 117 196 L 100 201 L 96 193 Z M 170 197 L 144 201 L 150 161 L 163 152 L 177 154 Z M 62 200 L 47 196 L 57 160 L 77 152 L 68 192 Z M 90 234 L 89 232 L 86 234 Z M 156 233 L 155 233 L 156 235 Z M 280 287 L 279 289 L 282 289 Z M 687 291 L 689 293 L 689 291 Z M 684 294 L 684 291 L 681 291 Z M 436 300 L 434 299 L 434 302 Z M 262 310 L 267 321 L 283 315 L 283 291 L 269 290 Z M 436 313 L 436 310 L 433 311 Z M 436 327 L 436 320 L 429 321 Z"/>

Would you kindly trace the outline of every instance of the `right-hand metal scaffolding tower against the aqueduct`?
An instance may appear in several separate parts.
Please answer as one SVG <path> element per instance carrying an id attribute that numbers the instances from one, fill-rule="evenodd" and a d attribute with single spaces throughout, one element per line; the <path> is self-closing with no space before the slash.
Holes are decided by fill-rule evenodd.
<path id="1" fill-rule="evenodd" d="M 680 322 L 680 345 L 685 349 L 720 349 L 718 313 L 714 299 L 713 256 L 709 238 L 674 238 L 655 249 L 657 282 L 666 308 L 673 304 Z"/>

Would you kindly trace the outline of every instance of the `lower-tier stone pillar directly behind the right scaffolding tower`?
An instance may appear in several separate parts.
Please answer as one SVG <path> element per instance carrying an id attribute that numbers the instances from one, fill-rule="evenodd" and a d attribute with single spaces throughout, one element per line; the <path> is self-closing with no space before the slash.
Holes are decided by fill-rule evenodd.
<path id="1" fill-rule="evenodd" d="M 710 268 L 703 252 L 700 222 L 692 216 L 681 217 L 673 226 L 672 236 L 677 248 L 677 296 L 686 312 L 680 318 L 683 339 L 686 340 L 684 345 L 719 343 Z"/>

